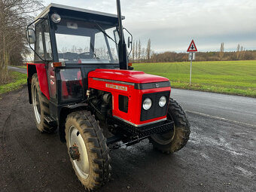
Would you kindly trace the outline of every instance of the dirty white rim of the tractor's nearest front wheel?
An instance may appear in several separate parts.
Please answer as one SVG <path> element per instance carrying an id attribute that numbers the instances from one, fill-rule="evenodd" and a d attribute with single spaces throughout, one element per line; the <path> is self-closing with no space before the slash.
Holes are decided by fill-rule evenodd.
<path id="1" fill-rule="evenodd" d="M 69 148 L 73 145 L 78 146 L 78 151 L 80 157 L 78 160 L 72 160 L 74 163 L 75 169 L 77 170 L 78 174 L 82 178 L 88 178 L 89 175 L 89 157 L 87 154 L 87 148 L 84 143 L 84 139 L 82 138 L 81 134 L 79 133 L 78 129 L 75 126 L 70 126 L 69 128 Z"/>

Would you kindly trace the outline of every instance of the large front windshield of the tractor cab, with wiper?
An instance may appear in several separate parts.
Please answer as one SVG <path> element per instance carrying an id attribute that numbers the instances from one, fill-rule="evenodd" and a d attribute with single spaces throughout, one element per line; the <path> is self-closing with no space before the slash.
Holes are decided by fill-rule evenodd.
<path id="1" fill-rule="evenodd" d="M 115 26 L 62 19 L 55 26 L 59 62 L 118 63 Z"/>

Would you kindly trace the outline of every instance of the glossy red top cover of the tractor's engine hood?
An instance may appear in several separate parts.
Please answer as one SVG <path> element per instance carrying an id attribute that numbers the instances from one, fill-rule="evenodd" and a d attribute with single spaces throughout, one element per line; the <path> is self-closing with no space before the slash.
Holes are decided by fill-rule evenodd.
<path id="1" fill-rule="evenodd" d="M 96 69 L 90 72 L 89 78 L 102 78 L 114 81 L 125 81 L 135 84 L 147 84 L 154 82 L 169 81 L 168 78 L 163 78 L 157 75 L 145 74 L 145 72 L 128 71 L 120 69 Z"/>

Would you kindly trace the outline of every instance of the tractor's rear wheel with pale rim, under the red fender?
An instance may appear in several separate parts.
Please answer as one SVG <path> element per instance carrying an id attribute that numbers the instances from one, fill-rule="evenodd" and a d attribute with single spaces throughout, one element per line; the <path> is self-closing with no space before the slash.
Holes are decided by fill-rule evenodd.
<path id="1" fill-rule="evenodd" d="M 41 133 L 52 133 L 56 129 L 53 126 L 50 126 L 46 120 L 44 120 L 45 116 L 50 115 L 49 100 L 46 98 L 46 96 L 44 96 L 43 93 L 41 93 L 38 75 L 36 73 L 32 77 L 31 88 L 36 126 Z"/>

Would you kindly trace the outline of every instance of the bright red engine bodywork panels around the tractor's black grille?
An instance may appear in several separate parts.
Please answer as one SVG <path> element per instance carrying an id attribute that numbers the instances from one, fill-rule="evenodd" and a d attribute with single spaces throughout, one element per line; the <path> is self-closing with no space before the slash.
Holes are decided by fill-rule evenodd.
<path id="1" fill-rule="evenodd" d="M 114 117 L 120 117 L 130 123 L 142 125 L 156 120 L 166 118 L 157 117 L 151 120 L 140 120 L 142 110 L 142 95 L 145 93 L 156 93 L 171 91 L 171 87 L 154 88 L 148 90 L 136 90 L 133 84 L 146 84 L 169 81 L 156 75 L 148 75 L 144 72 L 114 70 L 114 69 L 96 69 L 88 74 L 88 88 L 104 90 L 112 95 L 112 114 Z M 120 111 L 118 108 L 118 96 L 128 96 L 128 112 Z"/>

